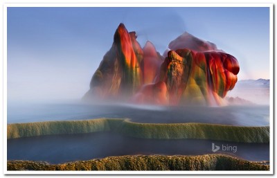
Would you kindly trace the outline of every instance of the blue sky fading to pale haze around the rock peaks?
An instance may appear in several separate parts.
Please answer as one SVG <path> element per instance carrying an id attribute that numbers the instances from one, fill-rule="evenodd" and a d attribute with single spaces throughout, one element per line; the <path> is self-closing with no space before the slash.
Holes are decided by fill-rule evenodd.
<path id="1" fill-rule="evenodd" d="M 8 100 L 78 99 L 120 23 L 161 54 L 185 31 L 269 78 L 269 8 L 8 8 Z"/>

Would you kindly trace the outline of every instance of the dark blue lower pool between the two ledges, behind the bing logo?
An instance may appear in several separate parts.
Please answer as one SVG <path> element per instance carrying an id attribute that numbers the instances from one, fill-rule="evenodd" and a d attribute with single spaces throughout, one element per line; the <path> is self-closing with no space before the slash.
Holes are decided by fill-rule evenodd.
<path id="1" fill-rule="evenodd" d="M 220 150 L 215 153 L 229 154 L 249 161 L 269 161 L 268 143 L 232 143 L 199 139 L 136 139 L 109 132 L 9 139 L 8 160 L 64 163 L 134 154 L 213 154 L 212 143 L 220 146 Z M 222 150 L 222 144 L 228 145 L 229 150 Z M 236 152 L 234 152 L 234 146 Z"/>

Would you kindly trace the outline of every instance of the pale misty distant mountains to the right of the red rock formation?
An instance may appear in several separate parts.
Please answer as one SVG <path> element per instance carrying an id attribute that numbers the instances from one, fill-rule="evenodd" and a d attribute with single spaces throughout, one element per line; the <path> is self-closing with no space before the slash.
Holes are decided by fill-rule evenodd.
<path id="1" fill-rule="evenodd" d="M 252 103 L 269 105 L 269 79 L 239 80 L 227 97 L 243 98 Z"/>

